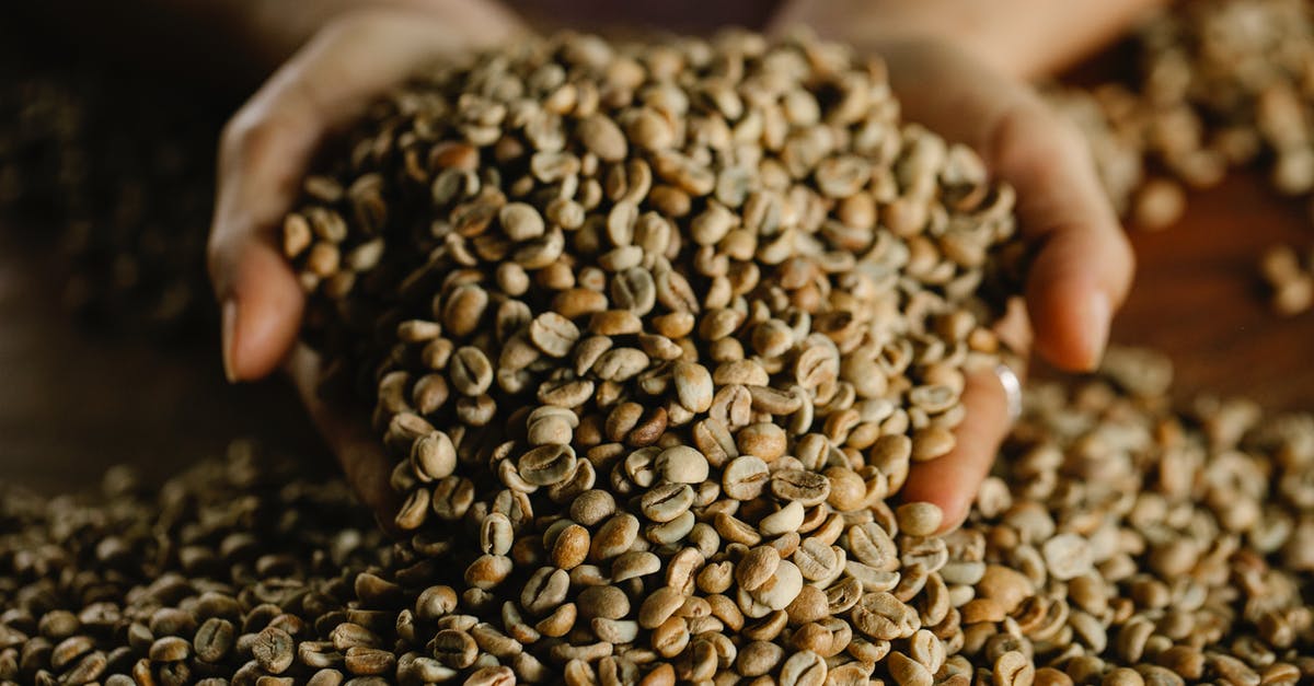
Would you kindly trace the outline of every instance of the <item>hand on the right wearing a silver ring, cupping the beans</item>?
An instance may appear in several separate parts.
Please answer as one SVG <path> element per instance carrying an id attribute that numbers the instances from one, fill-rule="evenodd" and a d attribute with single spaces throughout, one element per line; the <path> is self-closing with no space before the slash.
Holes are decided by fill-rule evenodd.
<path id="1" fill-rule="evenodd" d="M 1134 256 L 1080 134 L 1026 83 L 945 41 L 887 38 L 863 47 L 884 59 L 908 121 L 974 147 L 1017 192 L 1020 233 L 1034 254 L 1025 285 L 1030 326 L 1005 318 L 1003 338 L 1024 356 L 1034 343 L 1062 369 L 1097 367 Z M 938 505 L 945 530 L 967 516 L 1009 426 L 1005 392 L 989 371 L 968 378 L 963 405 L 954 451 L 915 465 L 903 489 L 908 501 Z"/>

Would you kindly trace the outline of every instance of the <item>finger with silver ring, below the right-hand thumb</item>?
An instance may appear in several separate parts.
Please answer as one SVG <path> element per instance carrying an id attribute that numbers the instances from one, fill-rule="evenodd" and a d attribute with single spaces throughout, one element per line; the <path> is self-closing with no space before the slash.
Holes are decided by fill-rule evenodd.
<path id="1" fill-rule="evenodd" d="M 930 502 L 945 515 L 941 532 L 967 519 L 976 492 L 1008 434 L 1008 398 L 993 369 L 972 372 L 963 388 L 967 413 L 954 430 L 958 442 L 942 457 L 912 465 L 900 492 L 907 502 Z"/>

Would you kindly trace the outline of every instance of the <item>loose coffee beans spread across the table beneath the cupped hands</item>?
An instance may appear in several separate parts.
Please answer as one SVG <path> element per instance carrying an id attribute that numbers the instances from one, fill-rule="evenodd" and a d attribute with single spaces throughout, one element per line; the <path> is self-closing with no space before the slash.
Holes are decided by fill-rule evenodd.
<path id="1" fill-rule="evenodd" d="M 790 557 L 834 574 L 866 564 L 846 549 L 886 551 L 920 590 L 809 576 L 761 618 L 725 594 L 633 595 L 643 551 L 474 606 L 461 551 L 389 545 L 343 484 L 246 442 L 156 490 L 124 469 L 97 497 L 5 490 L 0 683 L 1307 683 L 1314 417 L 1209 397 L 1172 411 L 1169 378 L 1114 350 L 1100 376 L 1033 384 L 963 528 L 900 534 L 878 503 Z M 740 583 L 775 560 L 762 551 L 778 552 L 687 553 L 662 574 Z M 794 574 L 775 564 L 777 583 Z M 583 631 L 599 636 L 569 640 Z"/>

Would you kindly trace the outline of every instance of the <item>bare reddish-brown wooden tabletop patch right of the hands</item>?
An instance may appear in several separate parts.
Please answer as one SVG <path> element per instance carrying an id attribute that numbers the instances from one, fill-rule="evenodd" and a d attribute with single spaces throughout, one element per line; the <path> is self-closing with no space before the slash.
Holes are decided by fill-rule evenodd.
<path id="1" fill-rule="evenodd" d="M 1163 231 L 1130 231 L 1131 297 L 1113 338 L 1168 352 L 1179 397 L 1244 394 L 1275 410 L 1314 410 L 1314 311 L 1267 305 L 1257 260 L 1269 246 L 1314 250 L 1306 202 L 1277 197 L 1257 172 L 1190 194 Z"/>

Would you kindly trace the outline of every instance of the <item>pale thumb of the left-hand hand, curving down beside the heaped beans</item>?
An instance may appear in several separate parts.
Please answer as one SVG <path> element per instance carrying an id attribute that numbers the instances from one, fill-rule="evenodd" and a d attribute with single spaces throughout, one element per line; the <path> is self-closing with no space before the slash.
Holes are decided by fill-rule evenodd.
<path id="1" fill-rule="evenodd" d="M 219 145 L 209 244 L 230 380 L 268 375 L 296 342 L 302 293 L 276 233 L 323 137 L 419 66 L 518 30 L 485 4 L 463 13 L 460 26 L 405 12 L 351 14 L 317 35 L 238 112 Z"/>

